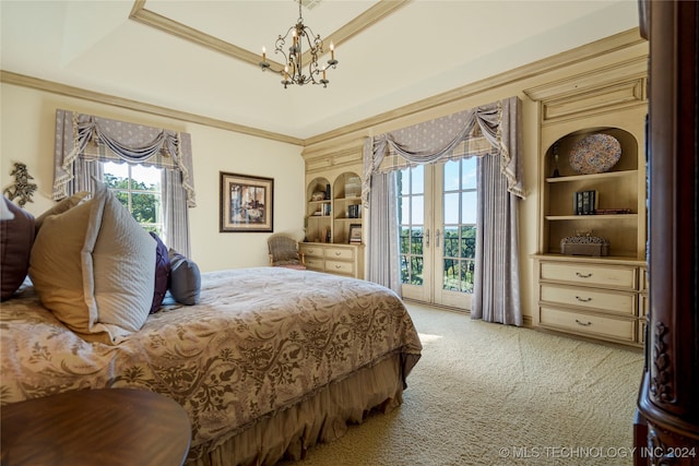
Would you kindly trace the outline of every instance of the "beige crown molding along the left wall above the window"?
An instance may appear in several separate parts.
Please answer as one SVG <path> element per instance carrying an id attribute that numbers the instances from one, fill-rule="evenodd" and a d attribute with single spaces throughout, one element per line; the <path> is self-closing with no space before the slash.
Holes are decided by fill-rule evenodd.
<path id="1" fill-rule="evenodd" d="M 292 138 L 286 134 L 280 134 L 271 131 L 264 131 L 257 128 L 246 127 L 242 124 L 232 123 L 229 121 L 217 120 L 214 118 L 203 117 L 201 115 L 190 113 L 187 111 L 174 110 L 167 107 L 145 104 L 128 98 L 116 97 L 109 94 L 103 94 L 94 91 L 83 89 L 80 87 L 69 86 L 67 84 L 56 83 L 52 81 L 40 80 L 38 77 L 26 76 L 24 74 L 13 73 L 11 71 L 0 70 L 0 82 L 14 84 L 23 87 L 31 87 L 38 91 L 45 91 L 52 94 L 60 94 L 68 97 L 75 97 L 98 104 L 111 105 L 115 107 L 127 108 L 129 110 L 142 111 L 145 113 L 156 115 L 158 117 L 171 118 L 175 120 L 199 123 L 206 127 L 218 128 L 226 131 L 248 134 L 251 136 L 263 138 L 272 141 L 284 142 L 288 144 L 303 145 L 304 140 Z"/>

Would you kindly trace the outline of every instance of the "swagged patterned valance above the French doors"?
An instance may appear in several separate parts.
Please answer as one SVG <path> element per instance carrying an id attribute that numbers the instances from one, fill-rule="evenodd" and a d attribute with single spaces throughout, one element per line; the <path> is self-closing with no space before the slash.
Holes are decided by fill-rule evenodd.
<path id="1" fill-rule="evenodd" d="M 519 109 L 520 99 L 510 97 L 367 140 L 363 202 L 368 203 L 375 174 L 487 154 L 500 157 L 508 191 L 524 198 L 519 168 Z"/>

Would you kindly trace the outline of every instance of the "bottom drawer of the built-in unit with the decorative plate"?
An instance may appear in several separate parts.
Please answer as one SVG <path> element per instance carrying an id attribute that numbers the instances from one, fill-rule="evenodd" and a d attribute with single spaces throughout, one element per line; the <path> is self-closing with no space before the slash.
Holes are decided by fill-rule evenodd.
<path id="1" fill-rule="evenodd" d="M 540 323 L 557 330 L 582 335 L 611 337 L 626 342 L 636 340 L 635 322 L 623 318 L 570 312 L 561 309 L 540 307 Z"/>

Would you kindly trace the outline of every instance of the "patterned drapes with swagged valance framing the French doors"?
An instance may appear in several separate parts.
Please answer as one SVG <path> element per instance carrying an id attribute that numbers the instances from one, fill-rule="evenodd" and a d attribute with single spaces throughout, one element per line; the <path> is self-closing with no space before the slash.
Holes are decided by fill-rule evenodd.
<path id="1" fill-rule="evenodd" d="M 524 199 L 519 164 L 520 105 L 518 97 L 510 97 L 367 138 L 362 202 L 370 212 L 369 248 L 376 243 L 377 251 L 382 252 L 369 249 L 368 280 L 392 289 L 400 287 L 395 272 L 400 261 L 398 227 L 391 227 L 395 225 L 396 194 L 387 189 L 386 174 L 419 164 L 479 157 L 475 263 L 478 289 L 472 301 L 472 316 L 522 325 L 516 202 Z"/>

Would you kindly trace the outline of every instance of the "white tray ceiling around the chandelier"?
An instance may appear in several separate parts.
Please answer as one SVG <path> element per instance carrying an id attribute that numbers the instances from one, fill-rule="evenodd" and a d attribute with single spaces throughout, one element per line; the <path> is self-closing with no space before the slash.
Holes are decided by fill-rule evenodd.
<path id="1" fill-rule="evenodd" d="M 327 38 L 375 3 L 323 0 L 304 22 Z M 277 74 L 130 20 L 133 7 L 0 0 L 1 69 L 308 139 L 638 26 L 636 0 L 413 0 L 336 45 L 328 88 L 284 89 Z M 144 8 L 270 59 L 298 16 L 292 0 Z"/>

